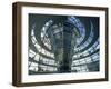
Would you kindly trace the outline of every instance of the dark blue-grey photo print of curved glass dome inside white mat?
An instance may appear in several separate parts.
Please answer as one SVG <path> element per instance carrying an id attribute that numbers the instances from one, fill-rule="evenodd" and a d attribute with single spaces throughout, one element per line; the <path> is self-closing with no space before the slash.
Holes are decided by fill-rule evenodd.
<path id="1" fill-rule="evenodd" d="M 99 18 L 29 14 L 29 75 L 98 72 Z"/>

